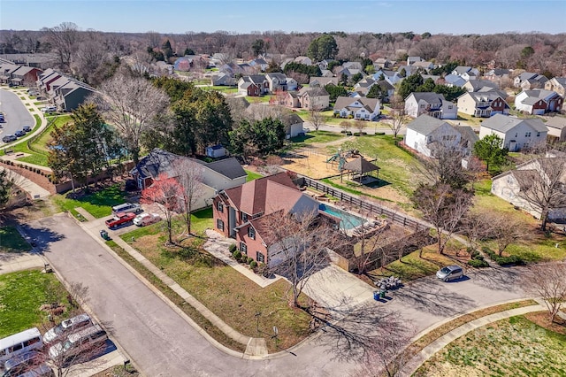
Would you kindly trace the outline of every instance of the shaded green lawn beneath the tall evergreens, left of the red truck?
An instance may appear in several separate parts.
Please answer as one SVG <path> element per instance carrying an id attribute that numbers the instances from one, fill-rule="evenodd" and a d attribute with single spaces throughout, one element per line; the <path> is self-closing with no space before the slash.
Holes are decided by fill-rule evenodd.
<path id="1" fill-rule="evenodd" d="M 80 196 L 73 199 L 72 192 L 65 195 L 57 194 L 51 196 L 53 203 L 57 204 L 60 211 L 69 211 L 73 216 L 77 215 L 74 210 L 76 207 L 84 208 L 88 213 L 96 217 L 96 219 L 111 215 L 111 206 L 126 202 L 124 196 L 126 192 L 120 189 L 119 184 L 115 184 L 92 194 Z"/>

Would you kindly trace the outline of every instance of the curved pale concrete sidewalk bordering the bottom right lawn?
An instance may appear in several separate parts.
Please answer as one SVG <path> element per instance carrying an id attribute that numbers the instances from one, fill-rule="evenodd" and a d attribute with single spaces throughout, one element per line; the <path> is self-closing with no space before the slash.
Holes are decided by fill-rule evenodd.
<path id="1" fill-rule="evenodd" d="M 402 373 L 402 375 L 403 376 L 412 375 L 413 373 L 415 373 L 417 371 L 417 369 L 421 365 L 423 365 L 423 363 L 426 360 L 428 360 L 429 358 L 432 358 L 432 356 L 435 353 L 442 350 L 450 342 L 455 341 L 456 339 L 458 339 L 462 335 L 466 335 L 467 333 L 475 330 L 478 327 L 486 326 L 486 325 L 488 325 L 492 322 L 496 322 L 496 321 L 501 320 L 501 319 L 508 319 L 510 317 L 515 317 L 517 315 L 522 315 L 522 314 L 526 314 L 526 313 L 529 313 L 529 312 L 539 312 L 539 311 L 544 311 L 544 310 L 545 310 L 545 308 L 540 304 L 531 305 L 531 306 L 524 306 L 523 308 L 517 308 L 517 309 L 511 309 L 509 311 L 493 313 L 493 314 L 487 315 L 486 317 L 474 319 L 474 320 L 462 325 L 461 327 L 456 327 L 454 330 L 450 331 L 449 333 L 447 333 L 445 335 L 440 336 L 440 338 L 438 338 L 437 340 L 435 340 L 431 344 L 424 347 L 424 349 L 421 350 L 415 357 L 411 358 L 409 360 L 409 363 L 407 363 L 407 365 L 405 365 L 404 372 Z M 435 328 L 435 327 L 431 327 L 431 329 L 433 329 L 433 328 Z M 427 332 L 422 333 L 421 336 L 426 334 L 426 333 Z"/>

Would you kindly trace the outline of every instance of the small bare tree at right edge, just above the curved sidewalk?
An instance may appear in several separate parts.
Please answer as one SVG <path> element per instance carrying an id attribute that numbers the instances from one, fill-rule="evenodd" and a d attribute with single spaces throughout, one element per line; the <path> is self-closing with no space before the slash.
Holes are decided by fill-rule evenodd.
<path id="1" fill-rule="evenodd" d="M 566 301 L 566 264 L 532 265 L 522 279 L 526 291 L 545 300 L 550 320 L 555 321 Z"/>

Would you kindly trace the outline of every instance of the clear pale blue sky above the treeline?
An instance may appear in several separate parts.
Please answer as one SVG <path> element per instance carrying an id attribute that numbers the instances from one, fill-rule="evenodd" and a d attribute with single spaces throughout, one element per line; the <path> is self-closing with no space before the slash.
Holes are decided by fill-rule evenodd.
<path id="1" fill-rule="evenodd" d="M 537 12 L 535 12 L 537 11 Z M 535 16 L 536 15 L 536 16 Z M 0 29 L 108 32 L 566 33 L 564 0 L 0 0 Z"/>

